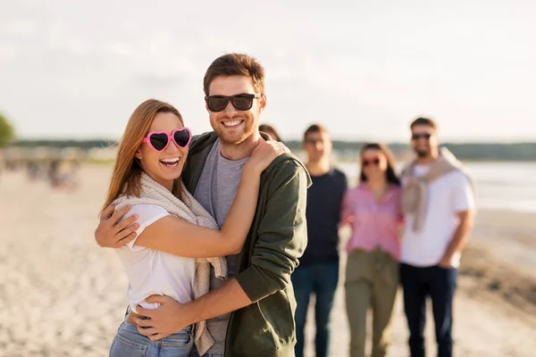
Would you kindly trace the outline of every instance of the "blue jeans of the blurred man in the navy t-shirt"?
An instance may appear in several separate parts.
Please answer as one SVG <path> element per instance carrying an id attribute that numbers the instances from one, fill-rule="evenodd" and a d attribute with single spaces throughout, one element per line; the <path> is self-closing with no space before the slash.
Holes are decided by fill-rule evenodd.
<path id="1" fill-rule="evenodd" d="M 298 266 L 290 276 L 296 296 L 296 357 L 303 357 L 309 297 L 316 295 L 314 319 L 316 338 L 314 346 L 316 357 L 325 357 L 330 350 L 330 317 L 333 298 L 339 281 L 339 262 L 325 262 L 314 265 Z"/>

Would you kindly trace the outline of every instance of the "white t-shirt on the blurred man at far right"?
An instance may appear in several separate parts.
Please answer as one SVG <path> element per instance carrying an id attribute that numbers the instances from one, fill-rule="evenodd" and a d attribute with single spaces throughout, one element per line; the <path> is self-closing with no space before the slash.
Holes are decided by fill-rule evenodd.
<path id="1" fill-rule="evenodd" d="M 429 165 L 415 165 L 414 175 L 423 177 L 428 170 Z M 406 185 L 404 179 L 402 185 Z M 406 215 L 400 262 L 417 267 L 438 264 L 459 224 L 457 213 L 472 210 L 474 210 L 473 189 L 463 172 L 452 171 L 433 180 L 428 185 L 428 202 L 423 227 L 419 232 L 415 233 L 413 230 L 415 215 Z M 455 253 L 452 261 L 453 266 L 457 268 L 460 253 Z"/>

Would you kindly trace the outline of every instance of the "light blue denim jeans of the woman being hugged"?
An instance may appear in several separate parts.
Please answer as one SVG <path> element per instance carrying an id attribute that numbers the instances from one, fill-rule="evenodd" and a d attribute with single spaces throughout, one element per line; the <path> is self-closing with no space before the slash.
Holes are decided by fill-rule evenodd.
<path id="1" fill-rule="evenodd" d="M 138 333 L 136 326 L 127 321 L 127 317 L 128 314 L 113 338 L 110 357 L 188 357 L 194 346 L 191 326 L 151 342 Z"/>

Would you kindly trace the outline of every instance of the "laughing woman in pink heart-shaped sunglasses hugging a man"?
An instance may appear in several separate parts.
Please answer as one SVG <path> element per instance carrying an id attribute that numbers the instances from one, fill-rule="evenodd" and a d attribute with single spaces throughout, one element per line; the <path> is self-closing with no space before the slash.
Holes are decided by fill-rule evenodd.
<path id="1" fill-rule="evenodd" d="M 136 307 L 150 295 L 168 295 L 180 303 L 208 292 L 211 266 L 226 278 L 224 255 L 239 253 L 255 213 L 260 175 L 277 156 L 288 153 L 280 143 L 261 142 L 242 173 L 229 215 L 218 229 L 214 218 L 183 187 L 180 174 L 192 135 L 172 105 L 154 99 L 140 104 L 130 116 L 113 168 L 104 207 L 132 208 L 117 224 L 126 228 L 133 216 L 136 238 L 116 249 L 129 279 L 129 310 L 113 339 L 110 356 L 188 356 L 194 345 L 193 327 L 151 342 L 138 333 Z M 129 219 L 130 218 L 130 219 Z M 214 340 L 205 321 L 195 328 L 197 351 Z"/>

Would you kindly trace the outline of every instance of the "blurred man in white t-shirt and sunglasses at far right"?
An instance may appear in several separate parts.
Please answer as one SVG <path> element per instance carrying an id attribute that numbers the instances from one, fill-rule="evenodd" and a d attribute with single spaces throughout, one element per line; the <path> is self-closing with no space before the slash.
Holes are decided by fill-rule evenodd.
<path id="1" fill-rule="evenodd" d="M 448 150 L 439 148 L 433 120 L 411 124 L 417 155 L 402 177 L 405 232 L 400 279 L 412 357 L 424 356 L 425 302 L 431 297 L 438 356 L 452 356 L 452 300 L 460 253 L 473 227 L 471 179 Z M 407 213 L 408 212 L 408 213 Z"/>

